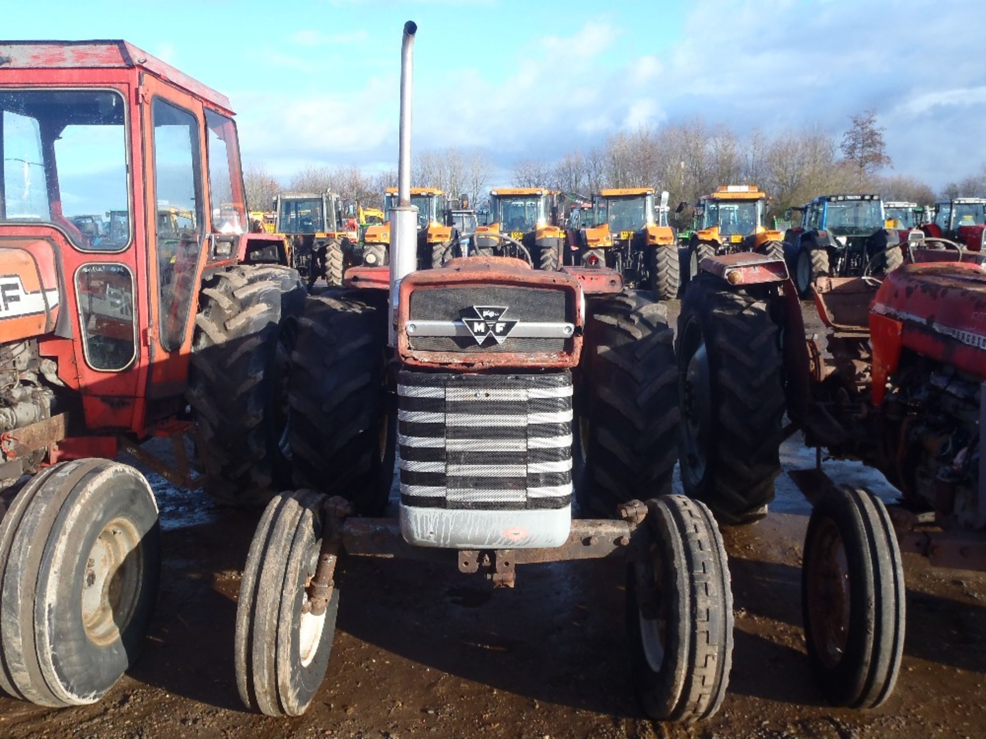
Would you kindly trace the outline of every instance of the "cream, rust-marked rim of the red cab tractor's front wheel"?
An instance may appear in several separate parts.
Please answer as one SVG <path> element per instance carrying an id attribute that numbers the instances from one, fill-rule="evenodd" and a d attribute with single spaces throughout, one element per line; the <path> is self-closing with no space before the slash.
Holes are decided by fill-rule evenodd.
<path id="1" fill-rule="evenodd" d="M 132 521 L 111 519 L 89 552 L 82 583 L 86 636 L 106 645 L 119 638 L 133 617 L 143 586 L 141 535 Z"/>

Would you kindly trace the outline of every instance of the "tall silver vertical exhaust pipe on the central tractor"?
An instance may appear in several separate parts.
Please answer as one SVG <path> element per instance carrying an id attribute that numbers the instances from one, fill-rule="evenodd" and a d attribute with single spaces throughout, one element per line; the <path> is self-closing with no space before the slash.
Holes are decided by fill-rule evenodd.
<path id="1" fill-rule="evenodd" d="M 389 344 L 397 343 L 396 313 L 400 281 L 418 264 L 418 209 L 411 205 L 411 106 L 414 34 L 417 24 L 404 24 L 400 45 L 400 145 L 397 156 L 397 207 L 390 210 Z"/>

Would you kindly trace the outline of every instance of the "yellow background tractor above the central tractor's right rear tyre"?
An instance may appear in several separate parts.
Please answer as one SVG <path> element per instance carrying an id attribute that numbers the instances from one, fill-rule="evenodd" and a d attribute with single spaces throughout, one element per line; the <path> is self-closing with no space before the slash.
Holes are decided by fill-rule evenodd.
<path id="1" fill-rule="evenodd" d="M 628 287 L 677 296 L 680 266 L 668 226 L 668 193 L 656 208 L 653 187 L 620 187 L 593 195 L 594 227 L 580 234 L 580 263 L 619 271 Z"/>

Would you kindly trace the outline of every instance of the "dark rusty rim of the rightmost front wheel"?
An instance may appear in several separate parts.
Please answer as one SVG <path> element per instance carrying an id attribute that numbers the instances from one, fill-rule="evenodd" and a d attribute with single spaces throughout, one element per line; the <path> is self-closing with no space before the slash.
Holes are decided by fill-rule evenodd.
<path id="1" fill-rule="evenodd" d="M 846 548 L 834 521 L 821 521 L 808 549 L 809 638 L 822 664 L 832 669 L 846 650 L 851 602 Z"/>

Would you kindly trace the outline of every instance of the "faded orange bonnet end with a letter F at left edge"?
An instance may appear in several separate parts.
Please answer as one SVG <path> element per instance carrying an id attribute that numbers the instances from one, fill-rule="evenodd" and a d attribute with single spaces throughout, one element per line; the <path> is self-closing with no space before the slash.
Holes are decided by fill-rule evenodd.
<path id="1" fill-rule="evenodd" d="M 54 247 L 45 239 L 0 246 L 0 332 L 5 342 L 55 330 L 62 296 L 57 265 Z"/>

